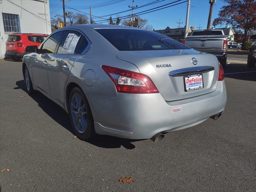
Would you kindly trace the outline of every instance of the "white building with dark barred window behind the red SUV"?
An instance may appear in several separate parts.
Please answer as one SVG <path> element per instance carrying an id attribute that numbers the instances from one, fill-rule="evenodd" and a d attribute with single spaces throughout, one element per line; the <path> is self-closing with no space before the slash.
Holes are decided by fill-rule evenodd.
<path id="1" fill-rule="evenodd" d="M 0 0 L 0 58 L 11 33 L 51 34 L 49 0 Z"/>

